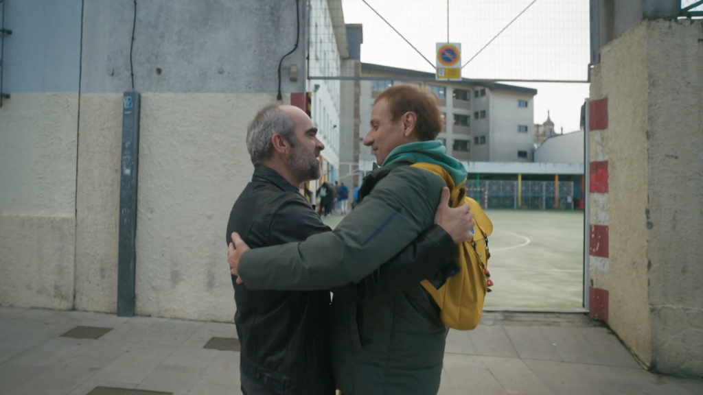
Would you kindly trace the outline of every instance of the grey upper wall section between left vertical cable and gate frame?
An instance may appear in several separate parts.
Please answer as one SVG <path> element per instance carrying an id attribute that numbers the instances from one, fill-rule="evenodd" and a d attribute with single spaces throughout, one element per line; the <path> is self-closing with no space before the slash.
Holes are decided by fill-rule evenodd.
<path id="1" fill-rule="evenodd" d="M 298 49 L 283 60 L 285 92 L 305 89 L 304 2 L 300 15 Z M 85 2 L 83 92 L 131 89 L 133 18 L 130 0 Z M 276 92 L 278 62 L 295 45 L 295 18 L 295 1 L 137 2 L 134 87 L 141 92 Z M 298 67 L 297 82 L 288 79 L 292 64 Z"/>

